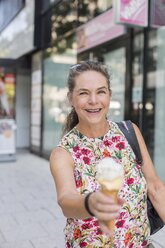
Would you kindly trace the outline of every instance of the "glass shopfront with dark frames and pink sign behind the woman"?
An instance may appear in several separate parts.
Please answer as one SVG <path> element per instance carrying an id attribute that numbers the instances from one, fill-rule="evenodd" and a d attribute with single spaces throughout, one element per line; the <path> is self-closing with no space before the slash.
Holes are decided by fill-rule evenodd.
<path id="1" fill-rule="evenodd" d="M 164 7 L 164 2 L 158 2 Z M 42 154 L 49 156 L 62 134 L 69 109 L 66 77 L 70 65 L 86 59 L 102 61 L 111 73 L 110 118 L 131 119 L 140 127 L 163 178 L 164 24 L 118 25 L 112 20 L 112 1 L 104 1 L 104 6 L 100 1 L 78 3 L 60 1 L 51 9 L 51 43 L 43 54 Z M 84 37 L 83 32 L 88 35 Z"/>

